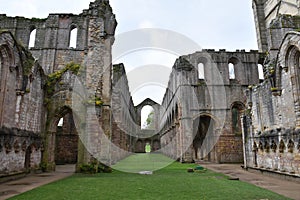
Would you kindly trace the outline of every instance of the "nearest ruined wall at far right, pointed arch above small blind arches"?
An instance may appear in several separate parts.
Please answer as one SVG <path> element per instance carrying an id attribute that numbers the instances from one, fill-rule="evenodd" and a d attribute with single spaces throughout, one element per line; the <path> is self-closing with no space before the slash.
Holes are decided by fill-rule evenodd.
<path id="1" fill-rule="evenodd" d="M 299 43 L 288 32 L 266 81 L 248 91 L 247 165 L 299 175 Z"/>

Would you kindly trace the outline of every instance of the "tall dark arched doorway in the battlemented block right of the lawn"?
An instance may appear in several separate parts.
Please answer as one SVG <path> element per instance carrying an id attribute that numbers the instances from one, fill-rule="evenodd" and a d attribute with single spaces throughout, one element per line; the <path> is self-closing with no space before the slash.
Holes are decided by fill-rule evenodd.
<path id="1" fill-rule="evenodd" d="M 201 115 L 194 120 L 194 140 L 192 144 L 194 160 L 216 160 L 215 147 L 212 147 L 214 145 L 215 127 L 215 121 L 210 116 Z"/>

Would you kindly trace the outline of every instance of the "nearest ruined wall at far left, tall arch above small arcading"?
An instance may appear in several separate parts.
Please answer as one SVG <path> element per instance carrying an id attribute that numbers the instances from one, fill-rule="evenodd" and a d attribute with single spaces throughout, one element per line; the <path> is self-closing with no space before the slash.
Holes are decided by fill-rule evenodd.
<path id="1" fill-rule="evenodd" d="M 7 174 L 40 163 L 45 77 L 31 54 L 7 31 L 0 33 L 0 52 L 0 173 Z"/>

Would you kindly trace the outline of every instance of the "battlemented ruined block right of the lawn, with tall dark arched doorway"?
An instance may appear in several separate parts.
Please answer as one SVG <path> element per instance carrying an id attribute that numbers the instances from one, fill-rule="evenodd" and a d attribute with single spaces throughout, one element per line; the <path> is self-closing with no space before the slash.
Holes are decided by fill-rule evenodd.
<path id="1" fill-rule="evenodd" d="M 236 108 L 241 116 L 245 111 L 244 90 L 259 83 L 259 60 L 257 51 L 243 50 L 208 50 L 177 60 L 161 107 L 161 143 L 167 155 L 178 158 L 187 150 L 181 160 L 197 160 L 200 157 L 196 158 L 196 154 L 208 154 L 213 162 L 242 161 L 242 131 L 233 130 L 232 112 Z M 204 79 L 198 76 L 199 63 L 204 66 Z M 229 78 L 229 63 L 234 64 L 234 79 Z M 193 143 L 200 140 L 197 139 L 199 117 L 201 121 L 205 116 L 213 122 L 214 131 L 207 136 L 210 141 L 202 138 L 200 143 L 204 142 L 204 146 L 216 143 L 216 146 L 208 145 L 204 150 L 208 152 L 195 152 Z"/>

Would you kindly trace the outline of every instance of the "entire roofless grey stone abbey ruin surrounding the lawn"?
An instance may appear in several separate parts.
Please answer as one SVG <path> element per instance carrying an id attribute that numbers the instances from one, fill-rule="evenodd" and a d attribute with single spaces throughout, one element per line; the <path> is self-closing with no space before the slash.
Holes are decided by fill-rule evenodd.
<path id="1" fill-rule="evenodd" d="M 180 56 L 161 105 L 134 105 L 126 66 L 112 65 L 108 0 L 79 15 L 0 15 L 0 176 L 65 163 L 79 170 L 95 158 L 112 164 L 150 143 L 180 162 L 299 177 L 300 2 L 253 0 L 253 11 L 259 49 Z M 140 126 L 146 105 L 151 130 Z"/>

